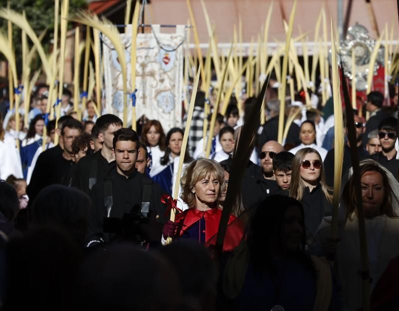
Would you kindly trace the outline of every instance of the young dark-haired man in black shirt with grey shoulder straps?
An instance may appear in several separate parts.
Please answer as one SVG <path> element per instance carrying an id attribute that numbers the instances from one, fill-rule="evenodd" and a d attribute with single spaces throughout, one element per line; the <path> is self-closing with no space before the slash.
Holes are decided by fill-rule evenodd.
<path id="1" fill-rule="evenodd" d="M 90 192 L 92 207 L 87 246 L 112 241 L 115 235 L 107 234 L 107 231 L 116 233 L 121 230 L 119 234 L 123 235 L 127 234 L 124 232 L 127 229 L 139 230 L 139 224 L 131 224 L 131 228 L 121 228 L 123 224 L 126 225 L 126 219 L 163 219 L 165 206 L 161 203 L 161 188 L 136 169 L 138 147 L 139 136 L 134 130 L 121 128 L 115 132 L 112 152 L 116 167 L 104 181 L 95 184 Z M 111 223 L 114 225 L 107 229 Z M 115 223 L 120 227 L 115 228 Z M 160 237 L 162 227 L 159 230 Z M 138 234 L 143 235 L 142 232 Z"/>

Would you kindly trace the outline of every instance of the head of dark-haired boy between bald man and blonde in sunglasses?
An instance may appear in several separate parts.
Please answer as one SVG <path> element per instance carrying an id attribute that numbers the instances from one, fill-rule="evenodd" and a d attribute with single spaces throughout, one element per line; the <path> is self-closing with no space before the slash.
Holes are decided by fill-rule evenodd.
<path id="1" fill-rule="evenodd" d="M 281 151 L 273 158 L 273 173 L 281 190 L 279 194 L 288 195 L 288 189 L 291 186 L 292 161 L 294 157 L 291 152 Z"/>

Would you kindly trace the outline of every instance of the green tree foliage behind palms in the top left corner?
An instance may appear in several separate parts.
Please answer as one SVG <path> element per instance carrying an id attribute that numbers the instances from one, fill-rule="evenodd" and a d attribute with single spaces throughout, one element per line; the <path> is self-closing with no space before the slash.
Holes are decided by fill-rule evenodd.
<path id="1" fill-rule="evenodd" d="M 47 33 L 42 40 L 42 45 L 45 51 L 49 51 L 52 45 L 52 38 L 54 33 L 54 0 L 0 0 L 0 7 L 7 7 L 7 2 L 10 3 L 10 8 L 16 12 L 22 13 L 25 10 L 26 19 L 29 21 L 30 26 L 35 31 L 37 36 L 47 28 Z M 76 10 L 85 8 L 87 6 L 86 0 L 69 0 L 69 14 L 73 14 Z M 61 0 L 60 0 L 61 8 Z M 59 10 L 59 14 L 61 9 Z M 59 21 L 60 17 L 58 18 Z M 72 22 L 68 23 L 68 27 L 73 27 Z M 59 25 L 58 25 L 59 27 Z M 7 33 L 7 20 L 0 18 L 0 31 Z M 59 28 L 58 28 L 59 31 Z M 12 27 L 13 46 L 15 50 L 16 65 L 18 74 L 22 65 L 22 44 L 21 44 L 21 30 L 13 25 Z M 59 32 L 58 32 L 59 38 Z M 28 38 L 29 48 L 32 42 Z M 0 56 L 4 59 L 3 55 Z M 32 64 L 37 67 L 39 64 Z"/>

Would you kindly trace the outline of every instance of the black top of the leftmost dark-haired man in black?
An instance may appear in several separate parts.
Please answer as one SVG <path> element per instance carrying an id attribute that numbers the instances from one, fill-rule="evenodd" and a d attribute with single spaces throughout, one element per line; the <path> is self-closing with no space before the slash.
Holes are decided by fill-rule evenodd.
<path id="1" fill-rule="evenodd" d="M 37 158 L 32 172 L 26 194 L 29 196 L 29 205 L 39 192 L 53 184 L 64 186 L 71 185 L 73 161 L 66 160 L 62 156 L 63 150 L 59 145 L 43 151 Z"/>

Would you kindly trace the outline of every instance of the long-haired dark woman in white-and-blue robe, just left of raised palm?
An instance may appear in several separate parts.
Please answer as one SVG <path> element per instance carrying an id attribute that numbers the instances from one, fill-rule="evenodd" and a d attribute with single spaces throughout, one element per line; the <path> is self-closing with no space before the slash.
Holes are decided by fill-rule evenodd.
<path id="1" fill-rule="evenodd" d="M 154 163 L 150 170 L 150 177 L 170 195 L 173 194 L 174 179 L 177 174 L 177 167 L 180 159 L 180 150 L 182 149 L 184 132 L 181 128 L 174 127 L 166 135 L 165 154 L 161 157 L 158 164 Z M 192 160 L 186 149 L 184 162 Z"/>

